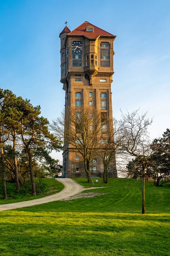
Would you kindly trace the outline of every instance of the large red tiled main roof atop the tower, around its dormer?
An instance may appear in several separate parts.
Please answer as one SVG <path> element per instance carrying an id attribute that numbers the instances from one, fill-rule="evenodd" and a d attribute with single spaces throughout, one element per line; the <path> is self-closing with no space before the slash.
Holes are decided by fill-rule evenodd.
<path id="1" fill-rule="evenodd" d="M 91 26 L 94 28 L 94 32 L 86 32 L 85 29 L 87 26 Z M 97 26 L 94 26 L 93 24 L 89 23 L 88 21 L 85 21 L 80 26 L 78 26 L 76 29 L 68 33 L 68 35 L 85 35 L 88 38 L 97 38 L 99 35 L 108 35 L 112 37 L 116 37 L 115 35 L 112 35 L 108 32 L 106 32 L 103 29 L 98 28 Z"/>

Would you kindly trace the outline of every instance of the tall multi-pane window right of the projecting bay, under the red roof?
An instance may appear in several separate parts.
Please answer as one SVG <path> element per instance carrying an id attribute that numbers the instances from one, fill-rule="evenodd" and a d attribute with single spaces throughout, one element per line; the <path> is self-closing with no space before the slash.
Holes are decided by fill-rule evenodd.
<path id="1" fill-rule="evenodd" d="M 100 44 L 100 66 L 110 67 L 110 44 L 109 43 Z"/>

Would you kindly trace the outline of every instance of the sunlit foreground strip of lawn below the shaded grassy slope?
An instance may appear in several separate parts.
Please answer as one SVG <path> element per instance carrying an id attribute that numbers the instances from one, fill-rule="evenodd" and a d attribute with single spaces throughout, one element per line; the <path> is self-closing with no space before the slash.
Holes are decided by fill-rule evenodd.
<path id="1" fill-rule="evenodd" d="M 168 255 L 167 215 L 10 211 L 0 218 L 2 256 Z"/>

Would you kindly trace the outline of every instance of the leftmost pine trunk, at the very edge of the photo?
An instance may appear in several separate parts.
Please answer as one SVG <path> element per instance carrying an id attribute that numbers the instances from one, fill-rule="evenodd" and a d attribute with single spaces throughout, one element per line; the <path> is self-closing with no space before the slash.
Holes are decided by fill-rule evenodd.
<path id="1" fill-rule="evenodd" d="M 5 163 L 3 156 L 3 136 L 2 136 L 2 127 L 0 126 L 0 171 L 3 180 L 3 199 L 7 198 L 6 194 L 6 178 L 5 178 Z"/>

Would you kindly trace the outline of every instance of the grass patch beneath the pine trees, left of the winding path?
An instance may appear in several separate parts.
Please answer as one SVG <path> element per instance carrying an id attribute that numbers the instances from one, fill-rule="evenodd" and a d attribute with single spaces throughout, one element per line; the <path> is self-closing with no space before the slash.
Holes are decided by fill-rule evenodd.
<path id="1" fill-rule="evenodd" d="M 0 204 L 10 204 L 42 198 L 60 192 L 64 188 L 62 183 L 53 178 L 35 179 L 35 186 L 37 196 L 32 196 L 30 180 L 26 180 L 24 186 L 20 186 L 19 192 L 16 190 L 15 183 L 10 183 L 7 180 L 6 191 L 8 199 L 3 200 L 2 180 L 0 179 L 0 191 L 2 191 L 0 193 Z"/>

